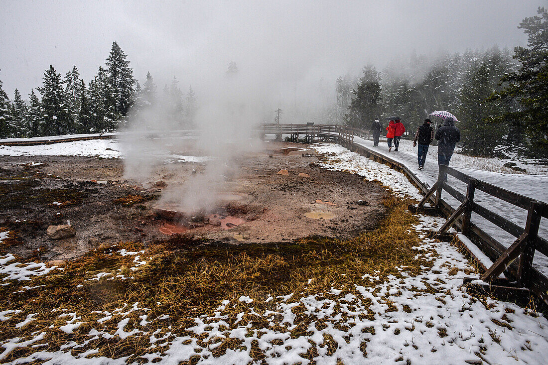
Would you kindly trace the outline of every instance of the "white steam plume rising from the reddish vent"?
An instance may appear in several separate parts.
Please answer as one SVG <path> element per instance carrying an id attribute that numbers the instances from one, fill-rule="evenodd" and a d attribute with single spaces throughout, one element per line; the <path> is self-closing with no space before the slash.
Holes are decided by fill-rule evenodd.
<path id="1" fill-rule="evenodd" d="M 182 186 L 168 186 L 160 203 L 176 205 L 189 214 L 214 208 L 228 176 L 237 173 L 237 158 L 261 146 L 253 130 L 262 121 L 264 106 L 250 81 L 239 72 L 221 76 L 216 88 L 209 90 L 207 100 L 199 100 L 192 131 L 189 123 L 169 117 L 169 105 L 161 99 L 132 113 L 121 130 L 125 178 L 146 183 L 165 161 L 199 151 L 205 157 L 204 168 L 187 176 Z M 180 165 L 168 166 L 176 169 Z"/>

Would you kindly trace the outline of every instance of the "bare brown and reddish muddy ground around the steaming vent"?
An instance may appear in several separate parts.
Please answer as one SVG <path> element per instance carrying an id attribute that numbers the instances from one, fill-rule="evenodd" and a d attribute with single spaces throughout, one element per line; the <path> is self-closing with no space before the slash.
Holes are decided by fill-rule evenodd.
<path id="1" fill-rule="evenodd" d="M 302 145 L 272 143 L 264 153 L 241 156 L 234 162 L 237 172 L 224 178 L 215 209 L 175 220 L 158 215 L 156 208 L 169 208 L 185 181 L 204 173 L 202 164 L 160 164 L 148 183 L 137 184 L 124 180 L 121 159 L 2 157 L 0 228 L 12 233 L 0 249 L 54 260 L 75 258 L 101 244 L 150 243 L 169 233 L 266 243 L 309 236 L 349 238 L 376 227 L 385 213 L 382 186 L 320 169 L 313 151 L 288 153 L 287 147 Z M 277 174 L 281 169 L 288 175 Z M 47 237 L 49 225 L 67 221 L 75 227 L 75 237 Z"/>

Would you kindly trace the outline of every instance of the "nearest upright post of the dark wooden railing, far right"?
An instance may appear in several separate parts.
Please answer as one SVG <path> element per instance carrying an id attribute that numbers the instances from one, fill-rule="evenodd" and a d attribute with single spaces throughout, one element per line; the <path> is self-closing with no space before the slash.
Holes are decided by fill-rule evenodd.
<path id="1" fill-rule="evenodd" d="M 542 203 L 531 202 L 529 213 L 527 214 L 527 223 L 525 233 L 527 235 L 526 246 L 520 255 L 520 265 L 518 266 L 518 281 L 522 286 L 529 286 L 531 266 L 536 249 L 536 241 L 539 235 L 540 219 L 542 218 L 540 210 Z"/>

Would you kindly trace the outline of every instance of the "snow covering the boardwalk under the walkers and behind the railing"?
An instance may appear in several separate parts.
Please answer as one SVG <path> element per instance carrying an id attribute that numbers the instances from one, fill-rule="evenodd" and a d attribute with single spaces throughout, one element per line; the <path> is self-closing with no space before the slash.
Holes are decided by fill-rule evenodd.
<path id="1" fill-rule="evenodd" d="M 438 166 L 436 146 L 430 146 L 429 155 L 426 158 L 425 168 L 419 171 L 416 169 L 418 168 L 416 147 L 413 149 L 412 141 L 401 141 L 398 152 L 395 152 L 393 149 L 389 152 L 388 147 L 383 144 L 379 144 L 379 147 L 373 147 L 373 141 L 364 140 L 358 137 L 354 138 L 354 142 L 371 151 L 375 151 L 381 155 L 390 157 L 397 162 L 405 164 L 421 181 L 429 186 L 433 186 L 437 180 Z M 457 168 L 461 172 L 471 175 L 478 180 L 486 181 L 489 184 L 499 186 L 503 189 L 548 203 L 548 176 L 515 173 L 506 174 L 493 171 L 483 171 L 482 167 L 489 166 L 489 164 L 490 166 L 495 166 L 492 170 L 498 169 L 496 168 L 496 164 L 499 163 L 498 160 L 489 159 L 489 164 L 483 162 L 476 164 L 473 161 L 475 159 L 476 157 L 455 154 L 453 155 L 449 166 Z M 463 163 L 463 161 L 466 163 Z M 463 165 L 466 167 L 463 167 Z M 448 183 L 450 186 L 455 187 L 456 190 L 466 195 L 466 184 L 456 178 L 453 178 L 453 176 L 449 176 L 448 178 Z M 447 192 L 442 193 L 442 198 L 446 200 L 453 208 L 460 205 L 460 202 L 450 196 Z M 525 227 L 527 220 L 527 211 L 525 209 L 516 207 L 513 204 L 502 201 L 479 190 L 476 190 L 474 201 L 484 208 L 503 216 L 518 226 Z M 482 218 L 476 213 L 472 213 L 471 221 L 506 247 L 509 247 L 516 239 L 503 229 L 500 229 L 498 226 L 490 223 L 488 220 Z M 539 235 L 541 237 L 548 238 L 548 220 L 545 218 L 540 221 Z M 545 276 L 548 276 L 548 258 L 538 251 L 535 252 L 533 266 Z"/>

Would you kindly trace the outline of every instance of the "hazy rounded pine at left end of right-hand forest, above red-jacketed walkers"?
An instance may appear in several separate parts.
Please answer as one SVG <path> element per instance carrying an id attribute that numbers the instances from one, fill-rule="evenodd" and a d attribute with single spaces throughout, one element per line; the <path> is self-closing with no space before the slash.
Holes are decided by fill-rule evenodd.
<path id="1" fill-rule="evenodd" d="M 351 126 L 368 128 L 368 124 L 380 118 L 381 113 L 380 75 L 374 66 L 363 67 L 363 75 L 352 94 L 349 107 Z"/>

